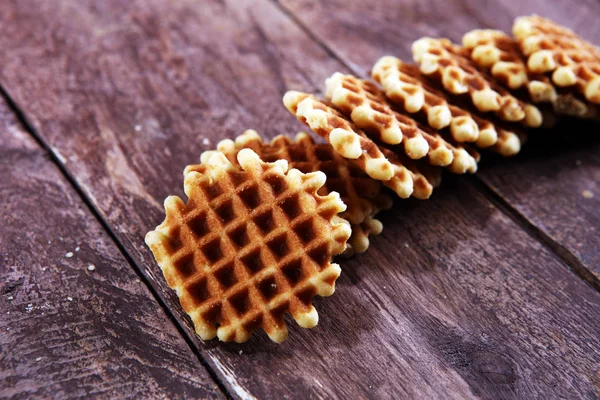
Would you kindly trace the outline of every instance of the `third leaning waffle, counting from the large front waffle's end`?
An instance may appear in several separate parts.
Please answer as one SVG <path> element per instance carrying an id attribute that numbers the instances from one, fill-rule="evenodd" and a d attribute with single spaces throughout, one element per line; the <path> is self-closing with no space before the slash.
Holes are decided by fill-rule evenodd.
<path id="1" fill-rule="evenodd" d="M 449 128 L 457 142 L 474 142 L 479 148 L 491 148 L 505 156 L 514 155 L 521 148 L 521 132 L 507 130 L 489 118 L 453 105 L 437 84 L 423 76 L 419 68 L 402 60 L 384 56 L 372 70 L 373 79 L 381 84 L 385 95 L 406 112 L 415 113 L 433 129 Z M 416 104 L 419 107 L 407 107 Z M 456 102 L 456 99 L 454 99 Z"/>

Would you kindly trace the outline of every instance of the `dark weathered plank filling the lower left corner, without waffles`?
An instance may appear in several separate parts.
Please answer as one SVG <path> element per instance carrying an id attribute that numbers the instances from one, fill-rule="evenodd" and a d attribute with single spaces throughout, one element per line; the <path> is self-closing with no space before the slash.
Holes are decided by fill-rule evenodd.
<path id="1" fill-rule="evenodd" d="M 0 143 L 0 397 L 222 398 L 4 102 Z"/>

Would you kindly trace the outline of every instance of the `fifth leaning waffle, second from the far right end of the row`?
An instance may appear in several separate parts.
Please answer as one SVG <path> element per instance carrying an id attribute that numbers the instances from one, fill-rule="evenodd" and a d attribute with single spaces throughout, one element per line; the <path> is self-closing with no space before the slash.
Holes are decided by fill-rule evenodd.
<path id="1" fill-rule="evenodd" d="M 471 60 L 511 90 L 526 89 L 534 103 L 551 103 L 560 115 L 593 118 L 596 107 L 569 89 L 559 89 L 544 74 L 527 69 L 519 42 L 502 31 L 476 29 L 463 36 Z"/>

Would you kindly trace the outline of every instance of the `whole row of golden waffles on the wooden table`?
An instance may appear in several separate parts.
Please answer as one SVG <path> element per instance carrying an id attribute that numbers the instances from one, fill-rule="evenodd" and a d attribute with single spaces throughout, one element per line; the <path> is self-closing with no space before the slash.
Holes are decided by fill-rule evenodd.
<path id="1" fill-rule="evenodd" d="M 281 342 L 284 314 L 315 326 L 312 298 L 341 272 L 332 258 L 365 252 L 394 197 L 428 199 L 443 170 L 475 173 L 480 151 L 514 156 L 537 128 L 599 118 L 600 50 L 550 20 L 462 46 L 421 38 L 412 53 L 379 59 L 373 80 L 334 73 L 321 99 L 287 92 L 320 141 L 248 130 L 186 167 L 187 202 L 168 197 L 146 243 L 201 338 L 262 329 Z"/>

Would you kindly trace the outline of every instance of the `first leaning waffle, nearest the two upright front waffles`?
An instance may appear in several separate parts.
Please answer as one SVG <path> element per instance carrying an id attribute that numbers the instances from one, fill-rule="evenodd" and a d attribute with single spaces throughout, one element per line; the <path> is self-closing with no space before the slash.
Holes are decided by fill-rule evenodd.
<path id="1" fill-rule="evenodd" d="M 296 91 L 287 92 L 283 103 L 313 132 L 327 139 L 338 154 L 353 160 L 371 178 L 382 181 L 401 198 L 418 195 L 413 180 L 417 172 L 409 170 L 393 153 L 386 157 L 377 144 L 338 110 Z"/>

